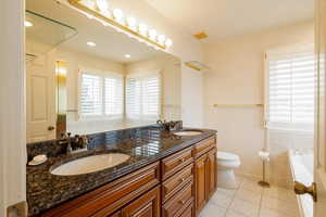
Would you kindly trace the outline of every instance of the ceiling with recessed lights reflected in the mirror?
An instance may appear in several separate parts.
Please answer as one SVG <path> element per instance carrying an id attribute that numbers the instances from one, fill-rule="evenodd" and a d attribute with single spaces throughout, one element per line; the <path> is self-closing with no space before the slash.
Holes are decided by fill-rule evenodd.
<path id="1" fill-rule="evenodd" d="M 76 36 L 60 44 L 64 48 L 121 63 L 137 62 L 165 54 L 111 27 L 105 27 L 95 20 L 89 20 L 66 5 L 58 4 L 54 0 L 26 0 L 26 9 L 77 29 Z M 43 31 L 46 35 L 47 30 Z M 86 44 L 87 41 L 93 41 L 97 46 L 91 48 Z M 125 54 L 130 54 L 131 58 L 126 59 Z"/>

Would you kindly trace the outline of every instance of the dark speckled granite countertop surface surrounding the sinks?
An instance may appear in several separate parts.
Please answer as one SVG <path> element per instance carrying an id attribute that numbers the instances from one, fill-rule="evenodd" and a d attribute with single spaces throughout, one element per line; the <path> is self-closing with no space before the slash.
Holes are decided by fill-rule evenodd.
<path id="1" fill-rule="evenodd" d="M 202 135 L 179 137 L 172 132 L 147 129 L 146 136 L 141 135 L 114 144 L 104 142 L 83 153 L 48 154 L 48 161 L 45 164 L 27 165 L 29 216 L 40 214 L 216 133 L 215 130 L 200 130 Z M 128 154 L 130 158 L 115 167 L 91 174 L 55 176 L 50 173 L 51 169 L 76 158 L 114 152 Z"/>

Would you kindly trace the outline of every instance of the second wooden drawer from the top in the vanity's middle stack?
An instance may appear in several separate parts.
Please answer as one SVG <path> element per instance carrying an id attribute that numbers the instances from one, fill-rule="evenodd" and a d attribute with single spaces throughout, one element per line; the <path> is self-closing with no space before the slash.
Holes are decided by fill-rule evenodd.
<path id="1" fill-rule="evenodd" d="M 187 183 L 193 180 L 193 164 L 183 168 L 162 184 L 162 201 L 165 203 L 174 194 L 179 192 Z"/>

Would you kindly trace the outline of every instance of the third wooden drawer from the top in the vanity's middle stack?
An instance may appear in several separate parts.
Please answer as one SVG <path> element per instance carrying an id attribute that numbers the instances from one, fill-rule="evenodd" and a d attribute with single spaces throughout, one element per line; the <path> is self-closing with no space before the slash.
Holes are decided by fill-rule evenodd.
<path id="1" fill-rule="evenodd" d="M 163 217 L 180 216 L 193 203 L 192 181 L 163 206 Z"/>

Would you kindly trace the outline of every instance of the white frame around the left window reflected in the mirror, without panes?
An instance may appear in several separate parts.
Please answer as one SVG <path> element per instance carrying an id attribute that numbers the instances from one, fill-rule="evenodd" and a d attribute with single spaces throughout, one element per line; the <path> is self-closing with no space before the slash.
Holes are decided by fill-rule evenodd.
<path id="1" fill-rule="evenodd" d="M 88 75 L 95 75 L 95 76 L 100 76 L 102 78 L 102 114 L 101 115 L 83 115 L 82 114 L 82 101 L 80 101 L 80 94 L 82 94 L 82 76 L 83 74 L 88 74 Z M 121 114 L 115 114 L 115 115 L 106 115 L 105 114 L 105 106 L 104 106 L 104 78 L 105 77 L 117 77 L 122 79 L 122 113 Z M 77 103 L 78 103 L 78 120 L 108 120 L 108 119 L 123 119 L 124 118 L 124 113 L 125 113 L 125 80 L 124 76 L 122 74 L 115 73 L 115 72 L 110 72 L 110 71 L 99 71 L 99 69 L 93 69 L 93 68 L 87 68 L 79 66 L 79 72 L 78 72 L 78 91 L 77 91 Z"/>

